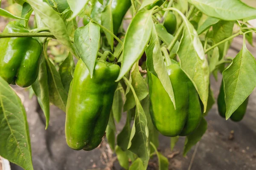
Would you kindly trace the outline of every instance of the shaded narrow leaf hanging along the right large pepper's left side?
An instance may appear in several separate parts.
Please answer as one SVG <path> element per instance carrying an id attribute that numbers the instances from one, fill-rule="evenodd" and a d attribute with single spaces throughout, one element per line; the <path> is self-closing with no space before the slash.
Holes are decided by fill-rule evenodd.
<path id="1" fill-rule="evenodd" d="M 148 134 L 149 134 L 149 142 L 152 142 L 154 144 L 155 147 L 159 146 L 159 140 L 158 140 L 158 136 L 159 133 L 157 131 L 157 129 L 154 127 L 151 116 L 150 116 L 150 111 L 149 111 L 149 105 L 150 105 L 150 100 L 149 100 L 149 96 L 147 96 L 145 99 L 143 99 L 141 101 L 141 105 L 143 107 L 143 110 L 145 112 L 145 115 L 147 117 L 147 122 L 148 122 Z M 154 152 L 154 148 L 151 146 L 151 151 L 150 153 Z"/>

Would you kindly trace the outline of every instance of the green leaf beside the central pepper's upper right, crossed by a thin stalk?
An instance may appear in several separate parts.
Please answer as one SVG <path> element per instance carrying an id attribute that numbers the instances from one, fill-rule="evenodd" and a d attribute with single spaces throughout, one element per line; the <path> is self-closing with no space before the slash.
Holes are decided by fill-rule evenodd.
<path id="1" fill-rule="evenodd" d="M 141 101 L 142 99 L 145 99 L 146 96 L 148 96 L 148 84 L 145 82 L 143 77 L 140 74 L 139 66 L 137 63 L 134 64 L 133 68 L 131 69 L 131 79 L 130 82 L 136 92 L 136 95 L 138 99 Z M 126 89 L 126 101 L 124 105 L 124 111 L 128 111 L 131 108 L 134 108 L 136 105 L 135 98 L 130 90 L 129 86 Z"/>

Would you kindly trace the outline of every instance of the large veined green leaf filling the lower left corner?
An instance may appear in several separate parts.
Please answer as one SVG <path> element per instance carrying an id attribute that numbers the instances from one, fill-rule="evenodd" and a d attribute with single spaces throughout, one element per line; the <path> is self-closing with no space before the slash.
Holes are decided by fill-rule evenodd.
<path id="1" fill-rule="evenodd" d="M 0 156 L 33 170 L 29 126 L 20 98 L 0 77 Z"/>

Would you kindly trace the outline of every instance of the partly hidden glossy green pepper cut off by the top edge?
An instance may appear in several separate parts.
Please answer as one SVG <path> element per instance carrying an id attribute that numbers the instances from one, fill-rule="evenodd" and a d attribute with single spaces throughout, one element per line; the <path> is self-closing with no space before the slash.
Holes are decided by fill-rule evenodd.
<path id="1" fill-rule="evenodd" d="M 114 34 L 118 33 L 122 20 L 130 7 L 131 0 L 112 0 L 111 8 Z"/>

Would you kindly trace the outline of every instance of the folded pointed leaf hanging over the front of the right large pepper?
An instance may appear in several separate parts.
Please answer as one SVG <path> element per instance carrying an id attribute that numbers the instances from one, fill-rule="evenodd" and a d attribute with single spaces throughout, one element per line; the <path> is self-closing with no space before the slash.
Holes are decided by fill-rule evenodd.
<path id="1" fill-rule="evenodd" d="M 156 28 L 160 27 L 157 26 Z M 166 90 L 166 92 L 170 96 L 170 99 L 172 100 L 173 105 L 175 106 L 172 83 L 170 81 L 169 75 L 166 70 L 166 65 L 163 60 L 160 42 L 157 37 L 158 32 L 156 28 L 153 25 L 151 40 L 148 47 L 145 49 L 147 55 L 146 65 L 148 67 L 148 71 L 150 71 L 152 74 L 159 78 L 160 82 L 163 85 L 163 88 Z M 169 35 L 169 33 L 165 35 Z"/>

